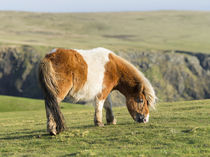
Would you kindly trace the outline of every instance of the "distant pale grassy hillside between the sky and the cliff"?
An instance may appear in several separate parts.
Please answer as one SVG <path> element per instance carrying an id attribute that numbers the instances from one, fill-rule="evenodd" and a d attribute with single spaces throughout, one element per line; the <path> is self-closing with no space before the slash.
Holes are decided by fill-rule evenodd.
<path id="1" fill-rule="evenodd" d="M 210 53 L 210 12 L 0 12 L 0 45 Z"/>

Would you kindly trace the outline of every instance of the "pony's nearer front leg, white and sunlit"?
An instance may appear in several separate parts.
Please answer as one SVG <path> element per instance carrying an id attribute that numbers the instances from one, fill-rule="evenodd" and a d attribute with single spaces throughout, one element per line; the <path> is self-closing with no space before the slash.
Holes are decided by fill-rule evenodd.
<path id="1" fill-rule="evenodd" d="M 104 100 L 99 100 L 98 97 L 96 97 L 94 103 L 95 103 L 94 123 L 96 126 L 104 126 L 102 122 L 102 110 L 103 110 Z"/>

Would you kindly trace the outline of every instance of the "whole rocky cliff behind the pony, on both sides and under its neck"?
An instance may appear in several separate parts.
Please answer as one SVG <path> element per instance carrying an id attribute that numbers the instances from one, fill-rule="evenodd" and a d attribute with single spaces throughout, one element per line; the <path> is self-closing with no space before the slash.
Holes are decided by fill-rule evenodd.
<path id="1" fill-rule="evenodd" d="M 0 94 L 41 98 L 40 53 L 30 46 L 0 48 Z M 151 81 L 160 101 L 210 98 L 210 55 L 185 51 L 118 52 Z M 114 104 L 123 98 L 113 93 Z"/>

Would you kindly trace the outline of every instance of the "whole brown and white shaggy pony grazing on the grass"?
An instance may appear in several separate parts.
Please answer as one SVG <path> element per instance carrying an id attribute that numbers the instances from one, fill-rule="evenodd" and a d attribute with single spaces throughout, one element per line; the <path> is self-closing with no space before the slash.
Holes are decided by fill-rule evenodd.
<path id="1" fill-rule="evenodd" d="M 59 103 L 66 97 L 94 100 L 96 126 L 103 126 L 102 109 L 108 124 L 116 124 L 110 92 L 120 91 L 137 122 L 149 121 L 149 107 L 155 108 L 155 92 L 150 82 L 133 65 L 105 48 L 92 50 L 54 49 L 39 66 L 44 92 L 47 130 L 56 135 L 65 129 Z"/>

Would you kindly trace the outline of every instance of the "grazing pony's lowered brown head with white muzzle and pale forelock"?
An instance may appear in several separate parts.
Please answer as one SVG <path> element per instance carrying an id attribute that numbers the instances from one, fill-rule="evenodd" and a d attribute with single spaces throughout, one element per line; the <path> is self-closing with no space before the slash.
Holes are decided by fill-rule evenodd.
<path id="1" fill-rule="evenodd" d="M 147 123 L 149 121 L 149 107 L 154 108 L 155 99 L 153 93 L 150 94 L 141 86 L 138 92 L 129 95 L 126 99 L 126 105 L 131 117 L 139 123 Z"/>

